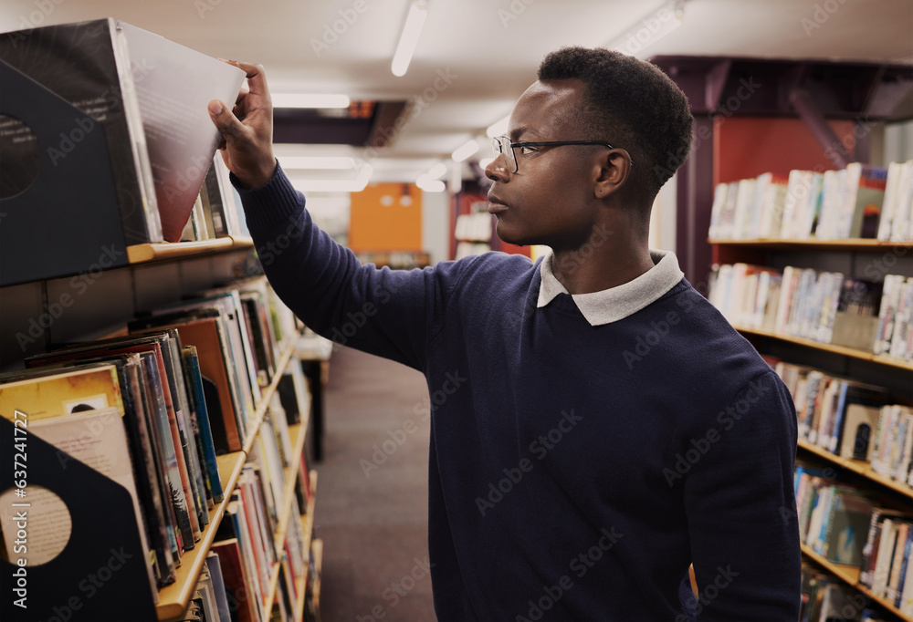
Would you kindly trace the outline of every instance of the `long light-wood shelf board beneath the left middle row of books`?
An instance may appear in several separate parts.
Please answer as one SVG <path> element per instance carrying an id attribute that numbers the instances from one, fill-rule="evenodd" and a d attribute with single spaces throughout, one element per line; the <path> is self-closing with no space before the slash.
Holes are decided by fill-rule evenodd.
<path id="1" fill-rule="evenodd" d="M 181 243 L 184 244 L 184 243 Z M 263 389 L 260 403 L 257 405 L 254 418 L 254 426 L 251 429 L 250 438 L 247 440 L 243 451 L 236 451 L 224 456 L 217 456 L 219 479 L 222 481 L 222 490 L 225 496 L 217 507 L 209 513 L 209 524 L 196 543 L 192 551 L 187 551 L 181 557 L 181 567 L 177 569 L 177 579 L 170 586 L 165 586 L 159 590 L 159 603 L 156 606 L 156 613 L 160 620 L 172 620 L 183 617 L 193 596 L 196 584 L 199 581 L 200 571 L 203 569 L 206 555 L 215 539 L 215 532 L 218 531 L 219 524 L 222 522 L 222 516 L 225 513 L 226 505 L 231 499 L 231 493 L 235 490 L 237 478 L 241 474 L 241 469 L 247 462 L 247 454 L 253 447 L 257 438 L 260 423 L 266 414 L 269 405 L 269 399 L 278 388 L 279 380 L 285 371 L 286 365 L 294 352 L 294 342 L 282 353 L 276 366 L 276 375 L 266 389 Z M 302 428 L 302 435 L 306 427 Z M 300 456 L 300 452 L 298 454 Z"/>

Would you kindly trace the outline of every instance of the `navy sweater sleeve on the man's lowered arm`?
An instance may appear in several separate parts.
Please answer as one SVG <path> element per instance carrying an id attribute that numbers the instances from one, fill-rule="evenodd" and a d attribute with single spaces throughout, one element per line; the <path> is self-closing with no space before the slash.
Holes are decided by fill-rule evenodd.
<path id="1" fill-rule="evenodd" d="M 684 482 L 697 619 L 796 620 L 801 553 L 792 398 L 780 378 L 765 372 L 715 413 L 706 431 L 689 443 L 696 451 Z"/>

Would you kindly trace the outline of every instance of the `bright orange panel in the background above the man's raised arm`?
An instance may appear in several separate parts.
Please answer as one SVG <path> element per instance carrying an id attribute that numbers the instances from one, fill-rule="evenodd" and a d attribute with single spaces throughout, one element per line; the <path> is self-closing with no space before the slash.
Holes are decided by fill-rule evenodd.
<path id="1" fill-rule="evenodd" d="M 349 247 L 422 251 L 422 191 L 414 183 L 377 183 L 353 192 Z"/>

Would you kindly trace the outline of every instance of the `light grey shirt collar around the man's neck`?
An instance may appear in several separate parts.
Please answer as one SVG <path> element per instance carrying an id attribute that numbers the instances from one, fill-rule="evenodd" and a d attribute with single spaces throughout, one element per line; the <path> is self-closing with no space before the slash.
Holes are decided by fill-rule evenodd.
<path id="1" fill-rule="evenodd" d="M 540 264 L 541 283 L 537 307 L 546 306 L 559 294 L 568 294 L 552 268 L 554 254 L 547 254 Z M 676 255 L 651 250 L 654 266 L 633 281 L 592 294 L 572 294 L 574 305 L 593 327 L 610 324 L 635 314 L 658 300 L 685 276 L 678 268 Z"/>

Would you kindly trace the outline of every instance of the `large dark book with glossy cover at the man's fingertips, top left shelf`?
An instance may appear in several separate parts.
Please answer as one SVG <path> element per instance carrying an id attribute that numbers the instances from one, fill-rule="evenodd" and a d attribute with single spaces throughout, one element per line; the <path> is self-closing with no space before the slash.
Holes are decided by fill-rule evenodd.
<path id="1" fill-rule="evenodd" d="M 85 157 L 79 137 L 104 130 L 108 154 L 98 165 L 114 173 L 125 244 L 181 240 L 219 140 L 206 105 L 234 101 L 244 71 L 112 18 L 7 33 L 0 61 L 85 115 L 49 157 Z M 6 162 L 21 163 L 10 179 L 26 190 L 37 170 L 29 159 L 45 150 L 34 149 L 36 136 L 21 120 L 4 121 L 10 131 L 0 148 Z M 79 196 L 83 206 L 90 199 Z M 4 232 L 30 234 L 13 223 Z"/>

